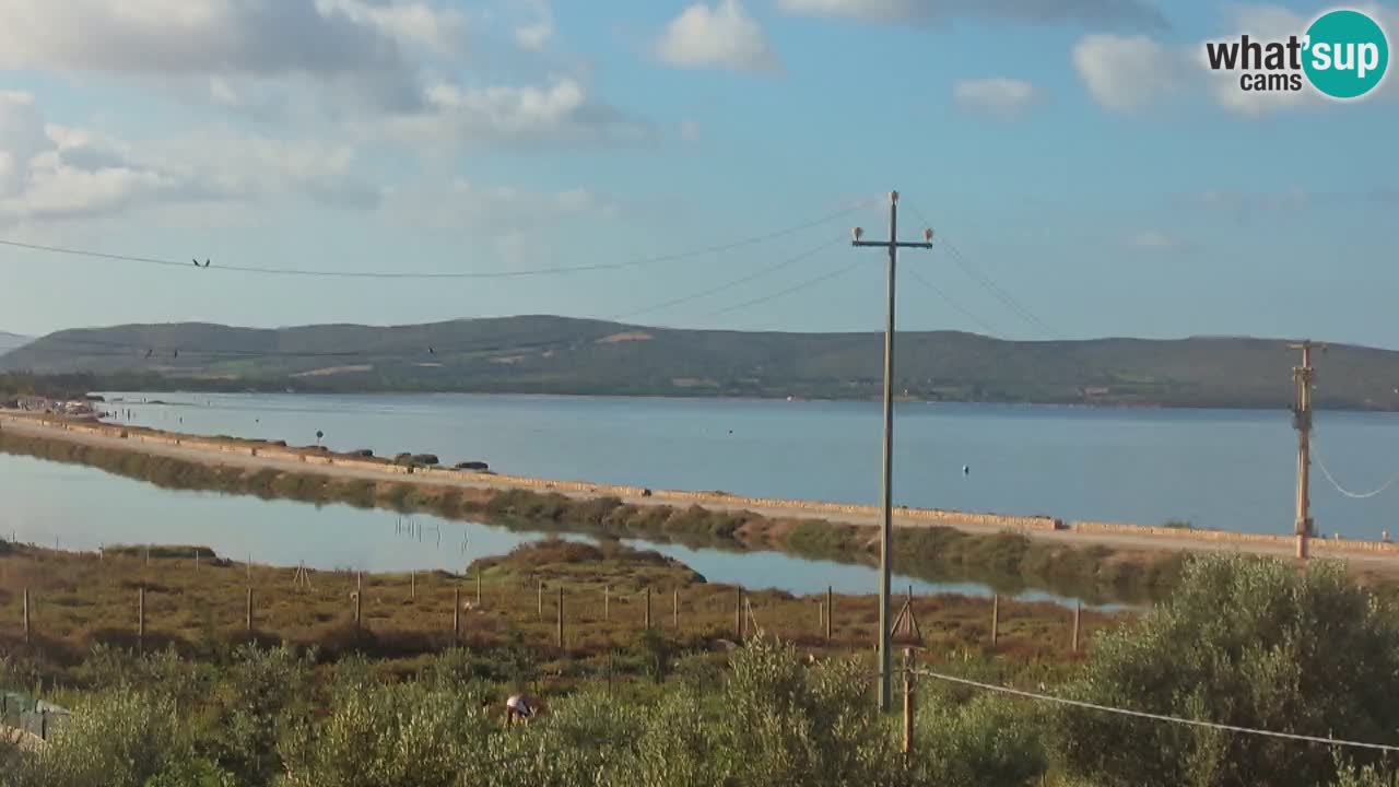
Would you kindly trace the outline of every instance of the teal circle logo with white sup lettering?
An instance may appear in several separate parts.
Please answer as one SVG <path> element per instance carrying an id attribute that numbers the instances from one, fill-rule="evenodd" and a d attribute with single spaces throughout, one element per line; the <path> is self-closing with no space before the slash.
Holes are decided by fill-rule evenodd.
<path id="1" fill-rule="evenodd" d="M 1307 28 L 1302 70 L 1332 98 L 1360 98 L 1375 90 L 1389 66 L 1384 28 L 1360 11 L 1330 11 Z"/>

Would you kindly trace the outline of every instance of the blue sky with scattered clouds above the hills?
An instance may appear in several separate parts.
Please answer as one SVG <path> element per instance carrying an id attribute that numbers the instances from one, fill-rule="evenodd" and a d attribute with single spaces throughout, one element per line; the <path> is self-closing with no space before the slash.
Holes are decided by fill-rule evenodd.
<path id="1" fill-rule="evenodd" d="M 1336 102 L 1203 64 L 1328 8 L 7 0 L 0 241 L 179 265 L 0 245 L 0 330 L 877 330 L 886 255 L 849 231 L 886 238 L 898 189 L 901 238 L 936 232 L 900 329 L 1399 347 L 1399 78 Z"/>

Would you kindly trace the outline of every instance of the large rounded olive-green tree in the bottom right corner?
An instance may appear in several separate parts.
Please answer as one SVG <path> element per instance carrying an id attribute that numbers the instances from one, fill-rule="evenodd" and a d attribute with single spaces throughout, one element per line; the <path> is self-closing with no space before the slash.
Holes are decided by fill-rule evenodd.
<path id="1" fill-rule="evenodd" d="M 1393 741 L 1399 626 L 1336 563 L 1200 557 L 1178 590 L 1097 641 L 1072 696 L 1220 724 Z M 1307 742 L 1070 707 L 1066 770 L 1111 786 L 1311 786 L 1336 777 Z M 1371 760 L 1363 752 L 1357 765 Z"/>

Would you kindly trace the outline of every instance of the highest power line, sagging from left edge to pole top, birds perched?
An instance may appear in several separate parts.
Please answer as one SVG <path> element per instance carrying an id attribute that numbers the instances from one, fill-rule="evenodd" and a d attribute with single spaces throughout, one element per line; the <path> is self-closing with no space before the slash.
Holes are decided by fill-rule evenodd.
<path id="1" fill-rule="evenodd" d="M 726 251 L 733 251 L 733 249 L 739 249 L 739 248 L 744 248 L 744 246 L 751 246 L 751 245 L 755 245 L 755 244 L 762 244 L 762 242 L 767 242 L 767 241 L 774 241 L 776 238 L 783 238 L 786 235 L 792 235 L 792 234 L 800 232 L 803 230 L 810 230 L 813 227 L 820 227 L 821 224 L 827 224 L 827 223 L 834 221 L 834 220 L 837 220 L 837 218 L 839 218 L 842 216 L 848 216 L 848 214 L 859 210 L 860 207 L 865 207 L 869 203 L 870 203 L 870 200 L 863 200 L 863 202 L 860 202 L 858 204 L 842 207 L 841 210 L 837 210 L 835 213 L 830 213 L 827 216 L 823 216 L 820 218 L 814 218 L 811 221 L 803 221 L 800 224 L 795 224 L 792 227 L 785 227 L 785 228 L 776 230 L 774 232 L 764 232 L 761 235 L 751 235 L 751 237 L 740 238 L 737 241 L 730 241 L 730 242 L 726 242 L 726 244 L 716 244 L 716 245 L 704 246 L 704 248 L 694 249 L 694 251 L 687 251 L 687 252 L 676 252 L 676 253 L 667 253 L 667 255 L 660 255 L 660 256 L 637 258 L 637 259 L 630 259 L 630 260 L 623 260 L 623 262 L 602 262 L 602 263 L 596 263 L 596 265 L 536 267 L 536 269 L 529 269 L 529 270 L 476 270 L 476 272 L 459 272 L 459 273 L 383 272 L 383 270 L 379 270 L 379 272 L 311 270 L 311 269 L 302 269 L 302 267 L 262 267 L 262 266 L 222 265 L 222 263 L 214 265 L 213 267 L 199 266 L 199 269 L 200 270 L 214 270 L 214 272 L 252 273 L 252 274 L 262 274 L 262 276 L 302 276 L 302 277 L 313 277 L 313 279 L 397 279 L 397 280 L 403 280 L 403 279 L 429 279 L 429 280 L 435 280 L 435 279 L 519 279 L 519 277 L 527 277 L 527 276 L 551 276 L 551 274 L 562 274 L 562 273 L 586 273 L 586 272 L 595 272 L 595 270 L 618 270 L 618 269 L 625 269 L 625 267 L 639 267 L 639 266 L 645 266 L 645 265 L 659 265 L 659 263 L 665 263 L 665 262 L 677 262 L 677 260 L 681 260 L 681 259 L 691 259 L 691 258 L 702 256 L 702 255 L 708 255 L 708 253 L 726 252 Z M 88 258 L 88 259 L 106 259 L 106 260 L 113 260 L 113 262 L 130 262 L 130 263 L 152 265 L 152 266 L 162 266 L 162 267 L 180 267 L 180 269 L 185 269 L 185 270 L 190 269 L 190 263 L 189 262 L 180 262 L 180 260 L 165 259 L 165 258 L 136 256 L 136 255 L 122 255 L 122 253 L 106 253 L 106 252 L 98 252 L 98 251 L 90 251 L 90 249 L 77 249 L 77 248 L 69 248 L 69 246 L 50 246 L 50 245 L 42 245 L 42 244 L 27 244 L 27 242 L 20 242 L 20 241 L 10 241 L 10 239 L 0 239 L 0 245 L 20 248 L 20 249 L 28 249 L 28 251 L 46 252 L 46 253 L 59 253 L 59 255 Z"/>

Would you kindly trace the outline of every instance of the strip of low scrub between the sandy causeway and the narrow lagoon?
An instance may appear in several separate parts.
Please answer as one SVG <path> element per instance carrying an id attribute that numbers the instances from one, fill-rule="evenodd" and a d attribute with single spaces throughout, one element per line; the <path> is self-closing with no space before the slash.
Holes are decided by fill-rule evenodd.
<path id="1" fill-rule="evenodd" d="M 617 497 L 579 499 L 532 490 L 369 482 L 278 469 L 213 466 L 139 450 L 112 450 L 0 431 L 0 451 L 95 466 L 165 489 L 255 494 L 266 500 L 382 506 L 519 529 L 555 529 L 674 541 L 732 550 L 778 549 L 806 557 L 872 563 L 876 529 L 824 520 L 769 518 L 701 506 L 638 506 Z M 933 581 L 979 581 L 1003 592 L 1041 588 L 1094 602 L 1140 602 L 1170 592 L 1181 556 L 1045 543 L 1018 534 L 972 535 L 954 528 L 895 531 L 895 570 Z"/>

